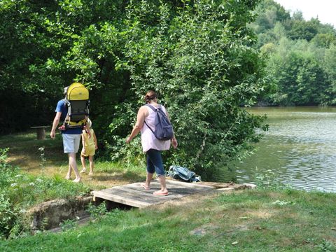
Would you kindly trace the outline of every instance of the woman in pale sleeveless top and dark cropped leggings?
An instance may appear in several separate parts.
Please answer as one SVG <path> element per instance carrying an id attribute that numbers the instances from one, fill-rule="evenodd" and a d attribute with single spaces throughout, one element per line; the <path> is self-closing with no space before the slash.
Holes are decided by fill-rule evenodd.
<path id="1" fill-rule="evenodd" d="M 153 90 L 148 91 L 145 96 L 145 102 L 146 104 L 151 104 L 155 108 L 161 106 L 162 111 L 165 112 L 169 118 L 165 107 L 158 104 L 158 94 L 156 94 L 156 92 Z M 155 191 L 153 195 L 165 196 L 168 195 L 168 189 L 166 186 L 165 169 L 163 168 L 161 151 L 169 150 L 171 141 L 172 146 L 176 148 L 177 141 L 175 136 L 173 136 L 171 141 L 161 141 L 155 138 L 153 132 L 148 128 L 151 127 L 152 129 L 155 129 L 155 116 L 156 113 L 149 106 L 141 106 L 137 114 L 137 123 L 134 125 L 130 137 L 127 137 L 126 144 L 129 144 L 130 141 L 141 132 L 142 150 L 146 153 L 147 160 L 146 182 L 141 184 L 141 186 L 145 190 L 150 190 L 151 180 L 153 179 L 154 172 L 156 172 L 160 181 L 161 190 Z"/>

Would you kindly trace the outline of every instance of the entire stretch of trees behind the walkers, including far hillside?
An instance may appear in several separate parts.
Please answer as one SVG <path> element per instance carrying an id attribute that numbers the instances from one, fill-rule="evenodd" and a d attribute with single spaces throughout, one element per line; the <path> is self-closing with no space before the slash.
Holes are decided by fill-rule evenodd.
<path id="1" fill-rule="evenodd" d="M 272 0 L 0 2 L 0 134 L 50 125 L 63 87 L 90 89 L 90 117 L 110 160 L 154 89 L 172 117 L 168 164 L 204 179 L 266 130 L 244 106 L 334 105 L 336 31 Z"/>

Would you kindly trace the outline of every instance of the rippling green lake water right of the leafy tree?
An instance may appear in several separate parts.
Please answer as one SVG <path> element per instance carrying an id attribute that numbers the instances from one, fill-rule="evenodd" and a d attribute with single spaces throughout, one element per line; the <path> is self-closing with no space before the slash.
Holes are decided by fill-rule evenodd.
<path id="1" fill-rule="evenodd" d="M 336 108 L 262 107 L 269 131 L 255 153 L 225 176 L 238 183 L 255 182 L 255 174 L 274 174 L 281 183 L 303 190 L 336 193 Z"/>

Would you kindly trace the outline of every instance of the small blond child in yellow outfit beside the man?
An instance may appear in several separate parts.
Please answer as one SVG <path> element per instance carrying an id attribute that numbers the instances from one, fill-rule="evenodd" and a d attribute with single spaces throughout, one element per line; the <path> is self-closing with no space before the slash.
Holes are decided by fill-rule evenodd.
<path id="1" fill-rule="evenodd" d="M 93 156 L 95 153 L 95 150 L 97 150 L 97 138 L 96 134 L 94 134 L 94 131 L 91 129 L 92 122 L 89 118 L 87 118 L 87 122 L 85 125 L 85 128 L 82 133 L 82 144 L 83 149 L 80 153 L 80 161 L 82 161 L 83 169 L 80 171 L 80 173 L 86 172 L 86 165 L 85 165 L 85 157 L 89 157 L 90 161 L 90 172 L 89 176 L 93 175 Z"/>

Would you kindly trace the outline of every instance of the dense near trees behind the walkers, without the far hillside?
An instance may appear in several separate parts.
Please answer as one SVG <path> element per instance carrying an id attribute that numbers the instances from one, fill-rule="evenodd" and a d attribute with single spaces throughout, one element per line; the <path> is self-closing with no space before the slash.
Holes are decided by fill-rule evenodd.
<path id="1" fill-rule="evenodd" d="M 168 163 L 211 178 L 257 141 L 255 129 L 262 127 L 262 118 L 241 108 L 267 90 L 265 65 L 246 26 L 257 3 L 5 0 L 1 33 L 9 43 L 0 49 L 0 80 L 25 97 L 36 94 L 26 111 L 49 120 L 45 111 L 53 113 L 62 88 L 85 83 L 104 154 L 117 160 L 140 154 L 137 141 L 127 148 L 124 142 L 144 93 L 153 88 L 179 137 L 179 152 L 167 153 Z M 14 58 L 13 48 L 20 48 Z M 20 114 L 6 108 L 8 115 Z"/>

